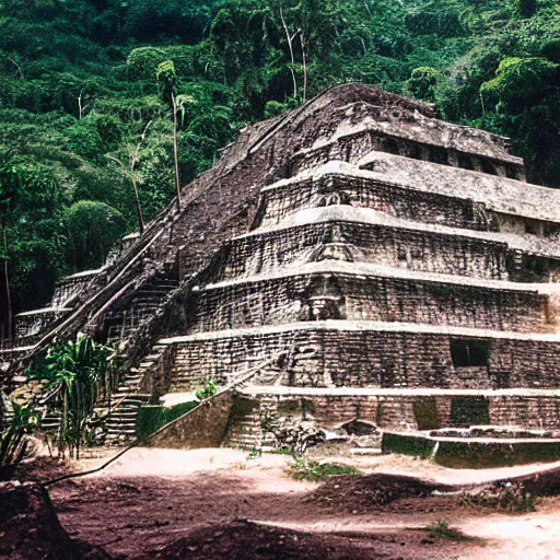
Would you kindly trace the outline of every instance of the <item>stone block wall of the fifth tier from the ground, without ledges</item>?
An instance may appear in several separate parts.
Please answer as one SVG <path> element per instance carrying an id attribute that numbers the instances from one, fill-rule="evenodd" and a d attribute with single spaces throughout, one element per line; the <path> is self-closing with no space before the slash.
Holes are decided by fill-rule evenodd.
<path id="1" fill-rule="evenodd" d="M 466 230 L 497 231 L 492 212 L 482 203 L 427 192 L 376 179 L 351 176 L 325 176 L 319 180 L 306 179 L 261 191 L 260 219 L 256 226 L 276 225 L 294 209 L 305 210 L 332 205 L 372 208 L 396 218 L 416 222 L 463 228 Z"/>

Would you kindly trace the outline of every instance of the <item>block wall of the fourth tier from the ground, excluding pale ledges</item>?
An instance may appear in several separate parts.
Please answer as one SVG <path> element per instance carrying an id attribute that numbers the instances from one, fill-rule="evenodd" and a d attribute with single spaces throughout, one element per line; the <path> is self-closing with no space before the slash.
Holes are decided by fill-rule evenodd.
<path id="1" fill-rule="evenodd" d="M 508 246 L 503 243 L 382 224 L 336 222 L 234 240 L 212 280 L 268 273 L 295 261 L 320 260 L 332 243 L 345 243 L 351 258 L 360 262 L 508 279 Z"/>

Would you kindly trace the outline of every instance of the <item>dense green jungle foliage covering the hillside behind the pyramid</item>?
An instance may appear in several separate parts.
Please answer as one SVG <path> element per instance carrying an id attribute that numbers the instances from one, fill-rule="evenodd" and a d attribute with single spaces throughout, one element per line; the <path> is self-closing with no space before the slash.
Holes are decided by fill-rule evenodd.
<path id="1" fill-rule="evenodd" d="M 137 228 L 132 173 L 145 219 L 171 199 L 180 100 L 183 183 L 246 122 L 353 80 L 512 136 L 532 180 L 559 186 L 559 22 L 557 0 L 0 0 L 15 311 Z"/>

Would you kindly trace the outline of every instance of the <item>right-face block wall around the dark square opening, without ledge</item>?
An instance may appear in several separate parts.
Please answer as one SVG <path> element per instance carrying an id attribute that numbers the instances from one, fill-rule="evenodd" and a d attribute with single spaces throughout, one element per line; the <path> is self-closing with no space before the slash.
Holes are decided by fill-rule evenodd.
<path id="1" fill-rule="evenodd" d="M 494 338 L 487 365 L 456 366 L 455 339 L 469 337 L 365 331 L 345 332 L 337 342 L 327 331 L 323 375 L 346 387 L 560 387 L 560 345 Z"/>

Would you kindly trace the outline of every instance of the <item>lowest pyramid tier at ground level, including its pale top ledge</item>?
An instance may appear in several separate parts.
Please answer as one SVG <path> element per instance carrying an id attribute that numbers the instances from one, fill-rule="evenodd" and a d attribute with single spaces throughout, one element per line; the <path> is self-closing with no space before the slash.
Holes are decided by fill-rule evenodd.
<path id="1" fill-rule="evenodd" d="M 560 435 L 560 392 L 526 389 L 352 389 L 245 387 L 238 394 L 245 411 L 234 418 L 230 438 L 260 436 L 262 418 L 292 416 L 332 429 L 353 419 L 382 430 L 438 430 L 462 425 L 506 425 L 551 430 Z M 244 406 L 243 406 L 244 404 Z M 228 440 L 225 445 L 228 444 Z"/>

